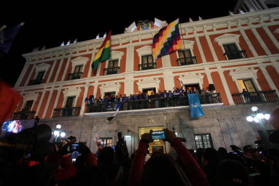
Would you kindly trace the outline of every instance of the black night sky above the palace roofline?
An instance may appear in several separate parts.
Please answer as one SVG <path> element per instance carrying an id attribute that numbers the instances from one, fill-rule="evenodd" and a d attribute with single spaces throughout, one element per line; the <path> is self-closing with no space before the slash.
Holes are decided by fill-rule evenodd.
<path id="1" fill-rule="evenodd" d="M 59 0 L 58 0 L 59 1 Z M 92 40 L 99 34 L 112 30 L 112 35 L 124 33 L 124 29 L 133 21 L 154 18 L 170 23 L 177 18 L 180 22 L 193 21 L 200 16 L 203 20 L 228 16 L 233 12 L 236 0 L 229 1 L 70 1 L 64 3 L 41 1 L 40 4 L 11 3 L 2 6 L 0 26 L 7 29 L 25 22 L 14 39 L 8 52 L 0 59 L 0 78 L 14 86 L 25 63 L 22 54 L 32 52 L 34 48 L 46 46 L 46 49 L 65 44 Z M 60 2 L 60 1 L 59 1 Z M 88 1 L 86 1 L 88 2 Z M 182 3 L 184 2 L 184 3 Z M 9 3 L 8 3 L 9 4 Z M 76 5 L 79 4 L 79 5 Z M 5 7 L 5 8 L 4 8 Z"/>

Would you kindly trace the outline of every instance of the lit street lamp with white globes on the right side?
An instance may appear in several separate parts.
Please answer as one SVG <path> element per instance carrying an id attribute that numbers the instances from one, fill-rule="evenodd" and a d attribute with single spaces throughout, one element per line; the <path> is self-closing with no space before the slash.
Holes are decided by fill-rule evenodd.
<path id="1" fill-rule="evenodd" d="M 268 133 L 264 127 L 264 119 L 269 120 L 270 114 L 266 114 L 265 111 L 260 113 L 259 108 L 257 106 L 252 106 L 251 110 L 254 113 L 253 114 L 247 113 L 248 116 L 246 117 L 246 120 L 249 122 L 254 121 L 256 123 L 259 123 L 265 139 L 268 140 Z"/>

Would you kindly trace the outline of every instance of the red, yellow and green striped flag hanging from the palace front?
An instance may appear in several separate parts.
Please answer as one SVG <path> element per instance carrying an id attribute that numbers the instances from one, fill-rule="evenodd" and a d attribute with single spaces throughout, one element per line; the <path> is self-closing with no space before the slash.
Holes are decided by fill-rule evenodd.
<path id="1" fill-rule="evenodd" d="M 109 57 L 111 57 L 110 46 L 111 46 L 111 31 L 107 35 L 106 39 L 104 39 L 101 47 L 99 48 L 99 51 L 97 52 L 97 54 L 93 59 L 93 63 L 91 65 L 92 70 L 94 70 L 98 66 L 99 61 L 104 61 Z"/>

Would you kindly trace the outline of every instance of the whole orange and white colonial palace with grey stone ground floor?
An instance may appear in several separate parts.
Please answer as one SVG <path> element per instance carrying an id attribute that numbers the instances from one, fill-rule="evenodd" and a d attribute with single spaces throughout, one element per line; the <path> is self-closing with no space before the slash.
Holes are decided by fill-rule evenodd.
<path id="1" fill-rule="evenodd" d="M 246 117 L 255 105 L 269 114 L 279 107 L 279 8 L 190 18 L 179 25 L 183 49 L 153 61 L 153 36 L 167 24 L 156 18 L 133 22 L 117 35 L 112 28 L 111 58 L 94 70 L 91 64 L 104 38 L 23 54 L 26 63 L 15 85 L 22 100 L 11 120 L 27 110 L 41 124 L 60 124 L 67 136 L 86 141 L 93 152 L 96 140 L 115 145 L 122 132 L 131 136 L 125 141 L 132 153 L 150 129 L 175 130 L 192 149 L 230 150 L 232 144 L 242 147 L 263 137 L 259 123 Z M 187 96 L 130 101 L 112 121 L 107 118 L 117 103 L 85 102 L 92 96 L 163 92 L 182 84 L 213 91 L 199 95 L 204 116 L 191 117 Z M 264 121 L 268 132 L 274 130 Z M 155 140 L 150 151 L 168 152 L 169 144 Z"/>

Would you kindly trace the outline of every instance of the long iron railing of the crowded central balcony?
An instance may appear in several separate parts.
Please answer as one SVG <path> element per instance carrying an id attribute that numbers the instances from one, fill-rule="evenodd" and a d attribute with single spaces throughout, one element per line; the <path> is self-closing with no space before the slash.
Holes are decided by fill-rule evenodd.
<path id="1" fill-rule="evenodd" d="M 199 100 L 200 104 L 222 103 L 220 93 L 199 94 Z M 120 103 L 121 102 L 111 102 L 110 107 L 108 103 L 86 104 L 85 113 L 115 111 L 116 106 Z M 121 110 L 152 109 L 176 106 L 189 106 L 188 96 L 173 96 L 166 98 L 126 101 L 124 105 L 121 107 Z"/>

